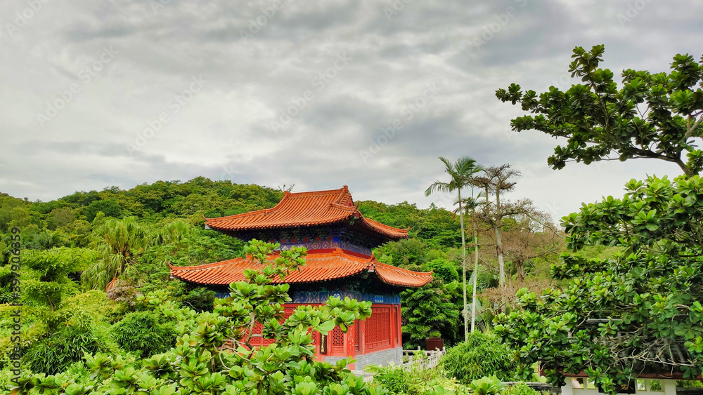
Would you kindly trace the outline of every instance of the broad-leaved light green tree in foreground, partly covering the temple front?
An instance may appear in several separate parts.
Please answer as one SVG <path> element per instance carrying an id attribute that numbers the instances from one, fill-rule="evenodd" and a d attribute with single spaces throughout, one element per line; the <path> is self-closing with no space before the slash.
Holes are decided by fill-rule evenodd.
<path id="1" fill-rule="evenodd" d="M 274 248 L 278 245 L 254 240 L 245 253 L 262 263 Z M 271 279 L 305 265 L 305 255 L 304 248 L 294 247 L 261 270 L 247 270 L 247 281 L 232 283 L 230 296 L 218 299 L 212 313 L 177 308 L 163 294 L 141 297 L 143 306 L 177 317 L 179 335 L 171 350 L 175 359 L 160 354 L 126 363 L 106 354 L 86 354 L 92 372 L 88 381 L 24 375 L 13 394 L 385 394 L 382 388 L 366 387 L 363 377 L 349 375 L 346 359 L 335 365 L 312 361 L 311 331 L 327 334 L 335 326 L 347 330 L 370 316 L 370 302 L 330 297 L 323 306 L 302 306 L 283 318 L 283 303 L 291 300 L 289 287 L 273 285 Z M 263 336 L 273 343 L 251 346 L 254 323 L 264 325 Z"/>

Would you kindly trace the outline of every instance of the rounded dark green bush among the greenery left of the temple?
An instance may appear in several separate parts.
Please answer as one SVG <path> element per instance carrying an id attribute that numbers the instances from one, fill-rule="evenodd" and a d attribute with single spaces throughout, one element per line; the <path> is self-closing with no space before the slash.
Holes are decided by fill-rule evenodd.
<path id="1" fill-rule="evenodd" d="M 176 343 L 172 326 L 159 323 L 151 312 L 134 312 L 112 327 L 112 336 L 125 351 L 140 353 L 142 358 L 166 352 Z"/>

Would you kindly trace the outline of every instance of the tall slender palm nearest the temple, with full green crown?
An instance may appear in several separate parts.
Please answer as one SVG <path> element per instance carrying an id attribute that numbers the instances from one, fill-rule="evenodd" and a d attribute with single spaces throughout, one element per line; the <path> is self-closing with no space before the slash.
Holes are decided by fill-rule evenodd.
<path id="1" fill-rule="evenodd" d="M 451 163 L 449 159 L 442 156 L 439 160 L 444 163 L 444 171 L 449 174 L 451 180 L 449 182 L 435 181 L 429 188 L 425 191 L 425 196 L 430 196 L 432 192 L 457 192 L 458 202 L 459 202 L 459 222 L 461 226 L 461 256 L 462 262 L 461 267 L 463 269 L 463 284 L 464 284 L 464 340 L 469 340 L 469 325 L 467 316 L 467 303 L 466 303 L 466 241 L 464 236 L 464 213 L 461 200 L 461 189 L 469 187 L 471 185 L 471 180 L 473 175 L 483 170 L 476 161 L 468 156 L 463 156 L 456 160 L 455 163 Z"/>

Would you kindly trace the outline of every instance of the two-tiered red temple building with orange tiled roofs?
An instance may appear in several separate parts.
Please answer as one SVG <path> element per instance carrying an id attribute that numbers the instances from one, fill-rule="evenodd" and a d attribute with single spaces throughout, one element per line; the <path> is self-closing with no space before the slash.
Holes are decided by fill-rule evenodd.
<path id="1" fill-rule="evenodd" d="M 318 192 L 284 192 L 273 208 L 227 217 L 208 218 L 206 229 L 214 229 L 244 241 L 258 239 L 280 243 L 280 249 L 307 248 L 307 265 L 291 272 L 283 281 L 290 284 L 292 302 L 285 316 L 301 304 L 323 304 L 328 297 L 349 296 L 372 302 L 372 314 L 357 321 L 347 333 L 337 326 L 322 336 L 313 334 L 316 359 L 356 359 L 352 369 L 369 363 L 400 363 L 402 359 L 400 293 L 424 286 L 432 273 L 412 272 L 378 262 L 372 248 L 387 241 L 408 237 L 408 229 L 397 229 L 370 220 L 359 212 L 347 186 Z M 191 267 L 171 267 L 172 279 L 207 286 L 228 295 L 228 285 L 243 281 L 243 271 L 252 263 L 243 258 Z M 254 331 L 260 331 L 259 324 Z M 259 344 L 270 340 L 254 338 Z"/>

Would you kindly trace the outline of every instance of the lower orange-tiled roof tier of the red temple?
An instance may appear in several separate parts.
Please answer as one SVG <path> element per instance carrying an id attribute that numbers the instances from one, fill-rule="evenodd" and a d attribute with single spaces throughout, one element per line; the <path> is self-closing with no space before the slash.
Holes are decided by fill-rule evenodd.
<path id="1" fill-rule="evenodd" d="M 269 255 L 269 260 L 278 254 Z M 363 272 L 373 273 L 378 279 L 392 286 L 421 287 L 432 281 L 432 272 L 413 272 L 392 265 L 378 262 L 375 257 L 354 253 L 341 248 L 308 250 L 306 265 L 290 272 L 285 279 L 278 277 L 273 283 L 314 283 L 334 279 L 344 279 Z M 245 269 L 262 269 L 250 259 L 238 257 L 232 260 L 209 263 L 200 266 L 173 266 L 172 279 L 181 279 L 189 283 L 202 285 L 226 286 L 236 281 L 245 281 Z"/>

